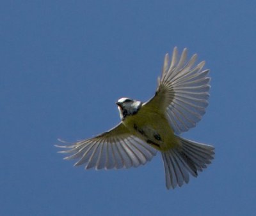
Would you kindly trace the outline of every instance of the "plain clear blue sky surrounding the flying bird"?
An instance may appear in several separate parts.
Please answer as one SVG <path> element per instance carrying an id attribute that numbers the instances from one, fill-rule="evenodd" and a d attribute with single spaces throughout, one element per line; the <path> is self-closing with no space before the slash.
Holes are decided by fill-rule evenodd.
<path id="1" fill-rule="evenodd" d="M 1 1 L 1 215 L 254 215 L 255 1 Z M 216 156 L 168 191 L 160 154 L 139 168 L 84 171 L 58 138 L 115 126 L 115 101 L 154 95 L 166 52 L 211 69 L 203 119 L 183 137 Z"/>

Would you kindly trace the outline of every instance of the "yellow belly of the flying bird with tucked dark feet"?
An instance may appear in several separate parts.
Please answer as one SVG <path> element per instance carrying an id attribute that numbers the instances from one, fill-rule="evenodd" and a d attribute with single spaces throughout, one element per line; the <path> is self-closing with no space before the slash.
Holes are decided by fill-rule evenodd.
<path id="1" fill-rule="evenodd" d="M 138 113 L 124 121 L 127 128 L 141 140 L 157 150 L 165 151 L 177 146 L 177 140 L 168 121 L 156 113 Z"/>

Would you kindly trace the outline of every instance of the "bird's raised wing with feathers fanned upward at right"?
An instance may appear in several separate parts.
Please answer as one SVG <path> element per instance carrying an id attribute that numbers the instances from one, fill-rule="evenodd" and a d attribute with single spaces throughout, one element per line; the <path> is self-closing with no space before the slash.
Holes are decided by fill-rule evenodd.
<path id="1" fill-rule="evenodd" d="M 195 66 L 196 54 L 189 61 L 186 61 L 186 57 L 185 48 L 179 59 L 177 47 L 173 50 L 171 61 L 169 55 L 165 55 L 156 94 L 143 104 L 145 108 L 166 115 L 176 134 L 195 127 L 208 105 L 209 69 L 203 70 L 204 61 Z"/>

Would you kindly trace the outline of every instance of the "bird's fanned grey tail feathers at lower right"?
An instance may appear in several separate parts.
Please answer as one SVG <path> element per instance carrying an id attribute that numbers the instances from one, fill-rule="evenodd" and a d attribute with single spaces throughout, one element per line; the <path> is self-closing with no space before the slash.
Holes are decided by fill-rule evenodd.
<path id="1" fill-rule="evenodd" d="M 207 168 L 214 156 L 214 147 L 177 136 L 179 147 L 161 152 L 164 162 L 166 187 L 175 188 L 189 182 L 189 173 L 197 176 L 197 171 Z"/>

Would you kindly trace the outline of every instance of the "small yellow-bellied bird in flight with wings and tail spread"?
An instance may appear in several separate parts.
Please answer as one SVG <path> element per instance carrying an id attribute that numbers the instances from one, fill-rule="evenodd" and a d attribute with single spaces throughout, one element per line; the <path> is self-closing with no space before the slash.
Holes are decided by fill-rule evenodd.
<path id="1" fill-rule="evenodd" d="M 56 145 L 64 159 L 77 159 L 74 166 L 85 169 L 138 167 L 161 152 L 167 189 L 188 184 L 214 159 L 214 147 L 187 140 L 180 133 L 195 127 L 205 113 L 209 98 L 209 69 L 205 61 L 196 64 L 197 55 L 187 60 L 188 49 L 172 58 L 167 53 L 154 96 L 143 103 L 129 97 L 116 105 L 121 122 L 93 138 Z"/>

